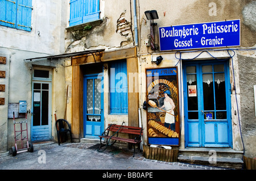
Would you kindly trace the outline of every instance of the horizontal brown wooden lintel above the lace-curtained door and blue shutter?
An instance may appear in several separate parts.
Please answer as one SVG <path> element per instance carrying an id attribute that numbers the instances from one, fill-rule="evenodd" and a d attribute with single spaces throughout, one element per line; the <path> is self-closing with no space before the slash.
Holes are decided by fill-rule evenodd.
<path id="1" fill-rule="evenodd" d="M 89 53 L 82 56 L 72 57 L 72 65 L 94 64 L 112 60 L 136 57 L 136 48 L 113 50 L 109 52 Z"/>

